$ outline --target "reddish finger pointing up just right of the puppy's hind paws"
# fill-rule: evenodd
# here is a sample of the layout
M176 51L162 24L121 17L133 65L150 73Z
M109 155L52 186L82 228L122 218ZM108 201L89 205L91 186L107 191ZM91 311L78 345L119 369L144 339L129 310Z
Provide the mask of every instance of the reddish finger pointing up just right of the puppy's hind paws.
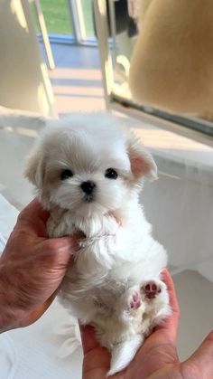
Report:
M162 325L160 327L157 327L156 329L163 329L167 331L171 341L175 342L179 326L180 308L178 298L174 289L174 283L167 269L162 271L162 280L165 282L167 290L169 292L171 315L167 317L166 320L164 320L164 322L162 323Z

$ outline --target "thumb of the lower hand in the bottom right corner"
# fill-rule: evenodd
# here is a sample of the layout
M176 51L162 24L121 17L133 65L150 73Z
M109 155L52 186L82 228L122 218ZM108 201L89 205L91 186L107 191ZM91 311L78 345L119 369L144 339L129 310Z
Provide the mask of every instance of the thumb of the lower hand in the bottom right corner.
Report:
M213 378L213 330L183 365L198 368L200 378Z

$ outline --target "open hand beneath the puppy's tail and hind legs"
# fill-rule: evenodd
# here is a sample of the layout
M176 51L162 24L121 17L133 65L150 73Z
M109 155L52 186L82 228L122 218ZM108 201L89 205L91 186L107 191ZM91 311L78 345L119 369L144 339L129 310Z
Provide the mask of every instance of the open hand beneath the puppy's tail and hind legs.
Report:
M209 379L213 377L213 332L190 358L181 363L176 349L180 310L171 276L163 272L172 313L156 327L131 364L112 379ZM110 355L97 343L92 327L80 327L84 352L83 379L104 379L109 370Z

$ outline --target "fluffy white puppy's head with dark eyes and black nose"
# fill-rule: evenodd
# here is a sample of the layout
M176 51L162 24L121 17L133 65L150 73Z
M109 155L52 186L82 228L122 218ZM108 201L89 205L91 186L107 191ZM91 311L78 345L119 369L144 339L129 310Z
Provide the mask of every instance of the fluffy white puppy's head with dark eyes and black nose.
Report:
M46 128L29 156L25 176L42 204L92 216L121 208L154 179L152 156L111 115L74 115Z

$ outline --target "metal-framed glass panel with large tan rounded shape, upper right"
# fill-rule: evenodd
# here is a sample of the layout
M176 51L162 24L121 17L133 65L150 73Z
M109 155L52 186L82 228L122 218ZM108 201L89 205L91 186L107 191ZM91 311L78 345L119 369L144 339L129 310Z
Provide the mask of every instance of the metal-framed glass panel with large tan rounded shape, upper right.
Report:
M139 3L143 5L141 13L139 12ZM179 26L180 23L176 23L178 17L181 17L181 12L183 12L182 9L179 9L179 5L177 5L177 9L173 10L172 5L170 9L169 2L165 10L160 9L157 3L151 0L140 0L140 2L138 0L97 1L97 29L102 45L102 69L105 71L108 105L115 108L123 107L123 110L125 109L126 112L140 111L141 114L143 112L144 117L153 118L153 120L158 120L158 122L159 120L169 120L172 123L213 135L213 111L211 109L211 104L213 104L213 62L211 64L211 60L213 60L213 57L211 58L209 53L211 51L211 35L213 35L212 23L205 29L204 24L206 21L203 18L204 15L198 17L198 12L198 15L195 17L196 20L198 19L197 24L199 24L200 30L203 31L200 38L198 38L199 31L198 29L195 30L195 27L197 27L195 25L197 24L195 22L192 23L190 9L187 13L184 8L185 14L189 14L189 20L186 21L188 29L185 31L183 26L182 30L178 29L178 27L181 28ZM184 7L190 6L187 3ZM152 14L153 9L150 7L154 6L158 6L159 9L154 9L155 13L153 12ZM207 6L205 5L205 7ZM166 43L163 43L162 38L161 45L158 36L164 33L163 13L165 14L166 12L171 13L171 24L169 23L167 28L165 28L165 38L167 40ZM154 20L154 16L156 17L156 21ZM103 24L103 20L105 20L105 24ZM190 20L191 24L189 27ZM175 23L177 24L176 29ZM136 76L136 78L141 78L141 81L137 79L136 85L141 84L143 88L141 90L143 95L140 101L135 99L133 96L133 86L130 89L128 84L130 62L133 59L135 43L138 41L139 28L140 36L143 35L143 38L141 37L140 40L140 53L143 54L144 49L146 61L149 59L150 54L150 61L147 63L144 60L140 65L140 70L144 70L142 71L143 75L137 74ZM150 28L148 33L147 28ZM110 40L107 38L107 30L111 36ZM149 33L152 35L152 39L150 40ZM197 40L195 38L196 35ZM154 38L156 44L152 46ZM197 43L194 43L194 40ZM192 47L194 47L194 51L191 50ZM172 57L174 49L177 49L177 53L175 52L176 55L174 54ZM207 49L209 52L207 52ZM140 54L138 56L140 59ZM107 64L106 61L108 61ZM152 70L153 77L156 78L155 81L151 81L150 79L152 77ZM158 70L164 70L162 73L164 75L163 78L157 76ZM194 77L190 75L193 70ZM197 72L198 75L196 75ZM203 80L204 83L201 83L199 87L202 74L205 77L205 82ZM199 79L197 80L198 77ZM188 81L188 78L190 78L190 81ZM160 81L162 81L161 88L159 85ZM145 86L148 90L144 90ZM153 90L153 93L151 93L151 90ZM162 99L163 90L165 96ZM211 92L212 99L209 99L208 93ZM157 97L156 94L160 95ZM208 101L205 100L206 98L208 98ZM202 106L203 103L205 104Z

